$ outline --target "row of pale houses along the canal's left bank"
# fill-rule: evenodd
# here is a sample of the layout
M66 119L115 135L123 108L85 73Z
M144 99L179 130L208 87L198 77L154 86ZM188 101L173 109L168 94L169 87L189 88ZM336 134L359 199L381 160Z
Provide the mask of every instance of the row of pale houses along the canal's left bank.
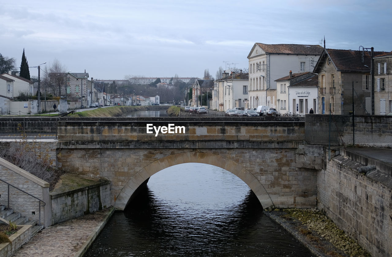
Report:
M62 101L59 109L67 111L68 109L85 108L91 104L98 103L102 105L156 105L160 103L160 96L158 95L136 95L135 93L109 94L111 83L102 81L94 81L89 73L49 73L49 81L45 83L34 83L31 80L24 79L11 73L4 73L0 75L0 114L27 114L45 112L51 109L53 103L46 103L42 101L35 102L33 100L21 103L15 98L21 93L25 95L36 95L38 88L41 95L57 95L61 99L66 100L66 106L62 106ZM48 84L49 86L46 86ZM113 91L113 90L111 90ZM40 105L40 103L42 104ZM61 106L60 106L61 105ZM13 107L14 106L14 107ZM61 108L60 108L61 107Z

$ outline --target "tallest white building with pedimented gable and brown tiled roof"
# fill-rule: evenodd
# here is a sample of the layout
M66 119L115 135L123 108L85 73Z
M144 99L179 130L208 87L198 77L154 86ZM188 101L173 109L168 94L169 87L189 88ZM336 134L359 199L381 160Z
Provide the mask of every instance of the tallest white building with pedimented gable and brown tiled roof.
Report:
M248 54L249 104L276 108L275 80L293 73L312 71L323 47L319 45L255 43Z

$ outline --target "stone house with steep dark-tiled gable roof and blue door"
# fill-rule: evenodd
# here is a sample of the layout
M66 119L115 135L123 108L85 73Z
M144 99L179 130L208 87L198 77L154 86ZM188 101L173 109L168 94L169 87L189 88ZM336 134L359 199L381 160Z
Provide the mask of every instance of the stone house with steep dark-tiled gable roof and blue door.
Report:
M384 52L374 52L380 54ZM313 70L319 75L319 113L351 113L353 93L354 113L372 113L370 55L360 50L323 50Z

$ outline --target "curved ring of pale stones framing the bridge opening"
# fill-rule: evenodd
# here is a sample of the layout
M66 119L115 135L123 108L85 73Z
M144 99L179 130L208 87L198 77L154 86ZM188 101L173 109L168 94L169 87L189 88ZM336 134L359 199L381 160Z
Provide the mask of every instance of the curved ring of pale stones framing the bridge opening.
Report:
M143 182L145 182L149 177L158 171L177 164L189 162L211 164L233 173L237 177L241 178L241 180L243 180L243 182L245 182L245 184L247 184L247 186L252 189L263 208L268 208L274 205L269 194L260 181L240 164L222 157L221 155L216 155L213 153L182 152L162 157L138 171L138 173L131 177L127 184L125 184L125 186L122 188L116 199L116 202L114 203L114 207L116 207L118 210L124 210L136 189L138 189L138 187L142 185Z

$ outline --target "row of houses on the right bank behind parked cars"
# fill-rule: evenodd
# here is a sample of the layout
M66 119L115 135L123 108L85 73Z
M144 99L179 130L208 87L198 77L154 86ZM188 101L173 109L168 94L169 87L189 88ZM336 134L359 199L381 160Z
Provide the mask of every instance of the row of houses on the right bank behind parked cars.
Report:
M248 73L227 70L210 88L195 82L196 95L211 91L218 111L267 105L298 114L392 112L392 52L255 43L247 58Z

